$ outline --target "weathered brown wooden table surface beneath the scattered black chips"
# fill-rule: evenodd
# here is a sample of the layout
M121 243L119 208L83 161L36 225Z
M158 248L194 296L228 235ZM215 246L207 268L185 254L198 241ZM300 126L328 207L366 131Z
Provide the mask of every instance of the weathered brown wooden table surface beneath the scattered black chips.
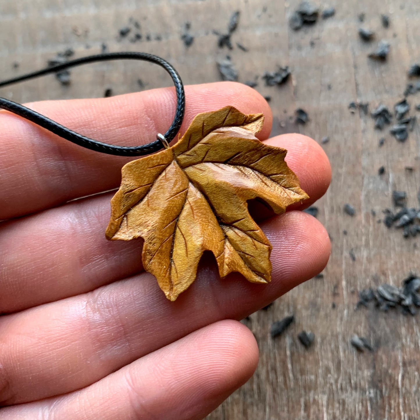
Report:
M323 148L331 159L333 181L317 205L318 218L331 236L332 253L323 279L297 287L267 311L244 321L259 343L259 366L253 378L208 419L419 419L420 315L355 311L354 305L358 289L381 283L399 286L410 270L419 269L418 239L404 239L400 231L388 231L377 220L384 208L391 207L393 189L407 191L408 205L418 207L420 131L417 126L407 142L398 143L388 130L375 131L370 116L350 113L348 104L367 101L372 110L379 102L392 107L402 97L407 69L420 60L420 2L331 0L328 5L336 7L336 16L294 32L288 18L297 4L295 0L2 0L0 79L42 68L68 47L82 56L100 52L106 42L110 51L161 55L186 84L219 80L215 60L227 50L217 47L212 30L226 30L231 13L241 11L233 40L249 52L236 47L229 52L240 81L253 80L278 65L288 65L292 71L292 79L281 87L265 87L261 79L256 87L272 97L273 134L300 131L318 142L323 136L330 138ZM358 39L361 12L366 16L363 26L391 43L386 63L367 59L374 44ZM390 16L388 29L382 27L380 13ZM150 41L118 39L118 29L130 17L140 21ZM188 49L180 39L186 21L191 21L195 37ZM18 70L12 67L15 61ZM108 87L114 94L138 90L139 77L146 88L170 85L167 75L149 64L100 63L74 69L74 83L68 88L48 76L1 89L0 95L18 102L100 97ZM416 100L420 102L420 94L409 97L412 108ZM310 116L304 126L291 118L299 107ZM381 136L386 141L379 148ZM380 177L381 165L386 173ZM414 170L404 170L406 165ZM346 202L354 205L354 217L343 213ZM291 313L296 322L283 336L271 339L270 324ZM315 333L308 350L297 341L302 329ZM370 339L375 351L357 353L349 344L355 333Z

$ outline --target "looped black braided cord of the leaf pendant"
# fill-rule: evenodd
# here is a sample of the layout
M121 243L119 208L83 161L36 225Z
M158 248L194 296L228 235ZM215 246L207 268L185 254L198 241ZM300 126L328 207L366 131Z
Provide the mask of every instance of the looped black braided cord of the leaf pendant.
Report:
M7 86L9 84L18 83L20 81L32 79L34 77L43 76L45 74L56 73L65 68L80 66L81 64L93 63L95 61L106 61L106 60L145 60L152 63L158 64L163 67L172 77L173 83L175 84L176 90L176 112L175 117L168 131L163 135L165 140L169 143L178 132L181 127L182 120L184 119L185 112L185 92L184 85L182 84L181 77L178 72L163 58L157 57L153 54L148 53L106 53L98 55L89 55L88 57L78 58L76 60L68 61L67 63L59 64L58 66L51 66L40 71L34 71L24 76L19 76L14 79L5 80L0 82L0 87ZM164 147L163 142L160 138L157 138L154 142L144 144L143 146L115 146L113 144L107 144L98 142L97 140L89 139L89 137L82 136L68 128L56 123L50 118L45 117L29 108L24 107L16 102L0 97L0 108L8 110L16 115L26 118L29 121L57 134L63 139L69 140L70 142L76 143L79 146L86 147L96 152L108 153L108 155L117 156L142 156L148 155L149 153L157 152Z

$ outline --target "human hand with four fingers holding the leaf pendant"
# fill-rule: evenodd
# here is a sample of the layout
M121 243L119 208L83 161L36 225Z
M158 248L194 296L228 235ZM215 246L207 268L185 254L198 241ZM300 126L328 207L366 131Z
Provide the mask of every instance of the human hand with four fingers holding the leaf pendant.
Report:
M194 115L233 105L264 113L265 100L241 84L186 87L181 134ZM137 145L170 125L173 88L107 99L29 105L102 142ZM283 215L256 207L273 245L272 281L218 278L203 258L197 280L169 302L142 269L142 241L107 241L110 198L132 158L83 149L0 112L0 418L2 420L202 419L255 370L252 333L235 321L319 273L328 234L300 211L326 191L331 168L316 142L299 134L268 144L310 199Z

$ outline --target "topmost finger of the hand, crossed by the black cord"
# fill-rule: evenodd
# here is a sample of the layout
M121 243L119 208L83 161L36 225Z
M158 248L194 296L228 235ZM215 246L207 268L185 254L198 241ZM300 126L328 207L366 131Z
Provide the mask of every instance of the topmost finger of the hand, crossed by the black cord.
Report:
M271 111L254 89L234 82L186 86L182 134L197 113L233 105L243 113L263 113L266 139ZM45 101L29 108L110 144L139 145L155 140L171 124L174 88L153 89L111 98ZM68 200L116 188L121 167L133 158L105 155L72 144L18 117L0 112L0 220L60 205Z

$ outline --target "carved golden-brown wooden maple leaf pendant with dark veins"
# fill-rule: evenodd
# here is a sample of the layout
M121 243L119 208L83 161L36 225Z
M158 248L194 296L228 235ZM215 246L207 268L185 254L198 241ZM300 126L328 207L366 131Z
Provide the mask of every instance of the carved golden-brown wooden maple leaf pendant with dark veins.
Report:
M192 284L205 250L222 278L237 271L270 281L271 245L247 200L259 197L280 214L308 196L284 161L287 151L255 137L263 121L233 107L198 114L175 145L123 167L106 237L142 237L144 268L168 299Z

